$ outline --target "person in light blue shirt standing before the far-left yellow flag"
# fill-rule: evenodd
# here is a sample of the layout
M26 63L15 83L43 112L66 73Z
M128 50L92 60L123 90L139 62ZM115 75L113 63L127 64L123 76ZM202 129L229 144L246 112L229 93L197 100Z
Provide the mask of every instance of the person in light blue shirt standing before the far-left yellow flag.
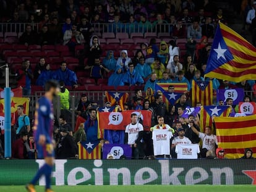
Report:
M24 106L20 105L17 107L17 112L19 115L17 122L17 130L16 135L20 135L20 133L30 133L30 119L27 115L24 114Z

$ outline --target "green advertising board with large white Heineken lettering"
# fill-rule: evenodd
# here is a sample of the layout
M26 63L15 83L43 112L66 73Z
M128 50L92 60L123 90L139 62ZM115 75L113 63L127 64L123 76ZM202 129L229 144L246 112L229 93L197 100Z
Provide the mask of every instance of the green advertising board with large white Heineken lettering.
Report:
M0 185L25 185L42 160L0 162ZM248 176L250 175L250 177ZM56 160L53 185L252 185L255 159ZM45 184L41 178L40 185Z

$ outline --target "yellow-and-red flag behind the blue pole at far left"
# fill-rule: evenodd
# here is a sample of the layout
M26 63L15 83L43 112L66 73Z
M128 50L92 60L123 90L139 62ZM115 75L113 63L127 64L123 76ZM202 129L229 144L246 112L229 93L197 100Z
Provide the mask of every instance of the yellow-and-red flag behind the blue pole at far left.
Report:
M24 114L28 115L29 102L30 102L29 98L11 98L11 113L16 113L17 107L23 106ZM0 99L0 112L4 113L4 99Z

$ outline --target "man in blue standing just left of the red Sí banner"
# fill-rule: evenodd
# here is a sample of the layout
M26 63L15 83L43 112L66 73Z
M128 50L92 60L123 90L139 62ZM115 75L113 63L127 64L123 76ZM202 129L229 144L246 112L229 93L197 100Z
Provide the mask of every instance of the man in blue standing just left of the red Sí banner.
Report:
M87 121L84 124L87 141L98 140L98 120L96 119L96 110L90 109Z

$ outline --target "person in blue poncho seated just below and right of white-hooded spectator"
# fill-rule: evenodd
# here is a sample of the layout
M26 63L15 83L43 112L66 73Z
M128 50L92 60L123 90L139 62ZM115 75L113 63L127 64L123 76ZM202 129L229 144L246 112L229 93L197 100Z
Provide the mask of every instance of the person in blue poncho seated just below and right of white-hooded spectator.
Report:
M124 74L122 81L124 85L141 85L144 83L142 76L134 70L134 64L130 62L128 64L129 70Z

